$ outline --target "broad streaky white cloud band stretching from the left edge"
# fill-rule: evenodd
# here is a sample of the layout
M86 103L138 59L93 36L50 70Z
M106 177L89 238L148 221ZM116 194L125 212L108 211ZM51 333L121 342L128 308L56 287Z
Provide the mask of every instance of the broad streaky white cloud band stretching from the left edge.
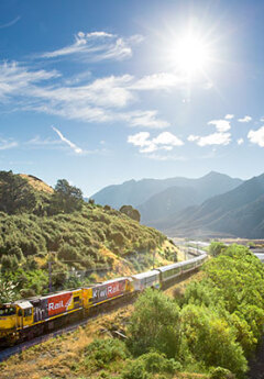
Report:
M87 73L86 73L87 74ZM43 85L53 79L53 85ZM56 82L56 80L58 82ZM131 126L164 129L169 123L158 116L156 110L122 110L139 101L136 90L130 89L135 78L130 75L99 78L67 86L61 75L45 70L30 70L18 64L0 65L0 102L13 98L18 108L55 114L84 122L125 122ZM14 107L12 107L14 110Z

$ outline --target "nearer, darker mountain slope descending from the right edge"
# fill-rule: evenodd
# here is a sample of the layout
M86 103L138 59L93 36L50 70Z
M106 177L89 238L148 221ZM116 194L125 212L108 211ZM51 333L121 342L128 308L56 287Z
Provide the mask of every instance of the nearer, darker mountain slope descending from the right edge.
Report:
M169 235L224 235L248 238L264 236L264 174L201 205L175 213L163 224Z

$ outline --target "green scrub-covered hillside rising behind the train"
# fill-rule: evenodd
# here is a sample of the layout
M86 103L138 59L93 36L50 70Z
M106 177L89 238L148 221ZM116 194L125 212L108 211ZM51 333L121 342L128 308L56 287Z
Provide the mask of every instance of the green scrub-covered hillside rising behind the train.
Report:
M43 189L43 182L36 188L0 172L0 271L18 283L16 296L47 290L50 259L53 288L59 289L150 268L154 250L156 263L175 258L177 249L161 232L92 202L65 213L54 207L59 192Z

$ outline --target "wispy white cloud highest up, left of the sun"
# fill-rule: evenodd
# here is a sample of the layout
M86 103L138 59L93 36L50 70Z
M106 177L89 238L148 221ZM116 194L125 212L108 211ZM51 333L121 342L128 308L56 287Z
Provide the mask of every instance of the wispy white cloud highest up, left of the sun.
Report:
M140 38L122 38L107 32L78 32L72 45L46 52L41 55L43 58L55 58L68 55L82 55L90 60L124 59L132 56L132 45L139 43Z

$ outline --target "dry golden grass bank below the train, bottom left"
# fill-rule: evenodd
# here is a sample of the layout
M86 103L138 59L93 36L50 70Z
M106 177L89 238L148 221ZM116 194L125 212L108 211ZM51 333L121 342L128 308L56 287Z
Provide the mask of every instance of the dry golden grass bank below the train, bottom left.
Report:
M123 320L129 319L133 310L128 305L111 314L101 315L90 321L86 327L43 344L31 347L20 355L9 358L0 365L1 379L59 379L79 378L85 372L73 371L82 357L82 352L96 337L106 337L111 328L118 328ZM87 377L88 379L88 377Z

